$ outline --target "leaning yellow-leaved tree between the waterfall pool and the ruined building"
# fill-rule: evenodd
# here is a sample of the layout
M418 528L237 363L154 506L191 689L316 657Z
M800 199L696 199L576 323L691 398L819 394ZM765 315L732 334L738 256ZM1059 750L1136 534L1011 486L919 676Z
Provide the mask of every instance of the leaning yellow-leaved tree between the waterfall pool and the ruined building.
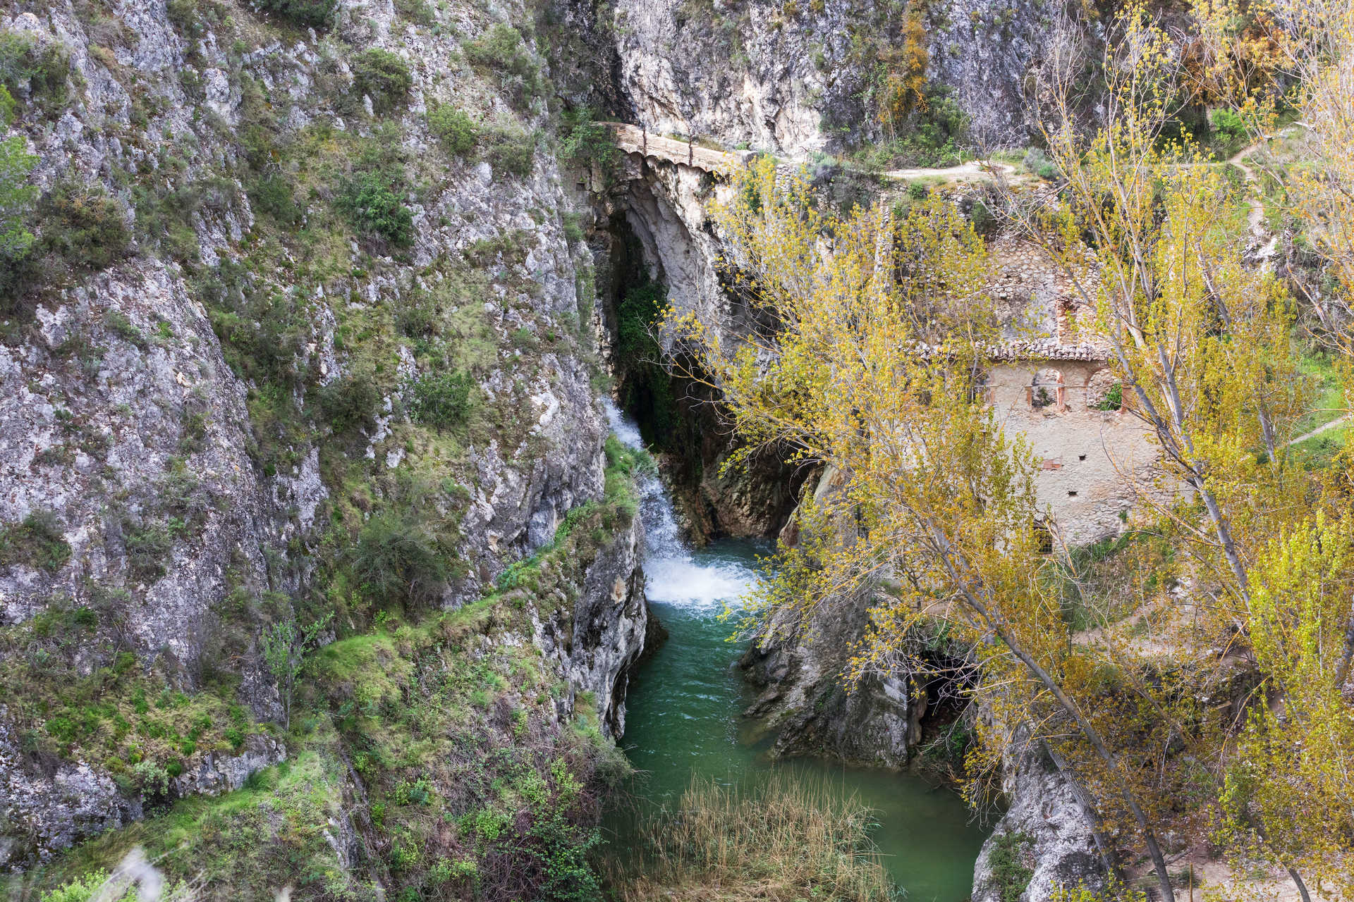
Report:
M722 392L750 448L788 446L837 475L834 491L806 499L800 541L781 549L749 614L793 629L831 599L876 594L857 676L918 623L949 622L984 672L988 753L1017 728L1085 749L1174 898L1141 778L1089 707L1095 663L1068 641L1060 598L1041 579L1034 461L984 402L997 323L982 239L940 197L900 223L858 208L834 216L803 177L769 161L715 219L735 289L772 326L730 346L693 316L670 318L700 364L686 375Z

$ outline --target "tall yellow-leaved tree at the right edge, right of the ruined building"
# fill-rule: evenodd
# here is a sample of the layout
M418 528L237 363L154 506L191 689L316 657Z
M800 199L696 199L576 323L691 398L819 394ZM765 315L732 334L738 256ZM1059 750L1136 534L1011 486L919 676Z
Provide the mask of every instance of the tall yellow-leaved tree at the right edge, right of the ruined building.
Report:
M1216 15L1219 7L1202 12ZM1349 4L1327 9L1327 22L1285 16L1277 7L1251 12L1290 26L1275 42L1288 53L1300 46L1304 28L1320 43L1313 57L1320 65L1294 66L1303 76L1296 95L1320 110L1313 118L1328 134L1338 134L1343 114L1335 108L1354 104L1347 91L1343 97L1331 91L1339 78L1330 70L1351 61L1347 43L1343 57L1336 51L1345 41L1338 35L1350 34ZM1215 35L1223 30L1212 27ZM1339 510L1347 500L1334 503L1324 519L1309 518L1331 495L1288 450L1309 403L1290 335L1292 300L1273 275L1244 261L1243 197L1189 143L1160 138L1179 96L1166 35L1141 9L1131 9L1117 50L1105 65L1105 122L1090 137L1068 103L1074 68L1056 60L1049 68L1041 122L1066 189L1062 203L1017 219L1063 262L1083 299L1098 304L1135 412L1162 448L1163 476L1202 508L1197 517L1192 506L1167 511L1200 563L1196 592L1219 590L1206 610L1229 623L1215 629L1235 630L1233 642L1263 680L1240 736L1221 737L1217 749L1231 852L1281 864L1304 899L1303 871L1347 894L1354 710L1343 695L1347 665L1340 661L1345 648L1354 648L1345 638L1354 637L1354 619L1343 588L1347 515ZM1239 60L1216 57L1224 58ZM1215 84L1247 89L1252 82L1242 74ZM1273 96L1251 93L1244 110L1261 122L1273 111ZM1336 270L1349 229L1342 166L1347 160L1301 174L1290 192ZM1086 238L1095 249L1091 266L1082 253Z

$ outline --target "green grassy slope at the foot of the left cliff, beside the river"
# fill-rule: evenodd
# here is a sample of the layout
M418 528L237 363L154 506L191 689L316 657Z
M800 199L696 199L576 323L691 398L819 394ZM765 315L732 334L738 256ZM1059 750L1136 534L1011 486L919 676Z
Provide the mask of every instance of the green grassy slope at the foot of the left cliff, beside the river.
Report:
M371 879L408 899L592 898L597 792L628 765L593 699L574 698L532 644L531 618L567 618L585 569L635 514L631 477L651 464L615 440L608 452L607 496L575 508L492 594L385 618L314 653L291 761L85 842L35 884L111 868L142 845L171 880L200 878L207 899L287 884L294 899L367 899ZM345 834L351 870L332 845Z

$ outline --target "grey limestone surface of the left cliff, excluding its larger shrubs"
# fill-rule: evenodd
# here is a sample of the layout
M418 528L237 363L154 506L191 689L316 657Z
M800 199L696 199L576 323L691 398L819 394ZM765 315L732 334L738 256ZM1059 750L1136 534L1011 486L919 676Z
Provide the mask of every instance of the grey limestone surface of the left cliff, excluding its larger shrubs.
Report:
M454 607L547 544L570 508L601 496L592 260L569 237L577 207L559 164L538 146L552 123L544 97L523 101L520 85L462 50L504 20L520 24L520 9L451 3L422 19L344 1L318 32L230 0L103 9L0 11L7 37L69 61L61 103L18 96L8 134L37 157L32 184L106 197L127 234L110 265L45 285L4 323L0 530L42 518L68 553L49 564L0 559L0 626L24 637L61 611L93 617L88 634L60 637L73 679L130 652L131 673L164 676L187 696L209 691L209 672L213 687L236 686L226 701L248 710L250 738L238 753L185 752L169 794L217 792L284 755L255 728L282 711L259 653L257 599L322 598L330 587L320 576L348 560L364 519L403 504L454 523L455 567L429 602ZM366 50L408 70L408 92L387 111L374 111L378 92L356 70ZM521 54L548 81L529 28ZM529 142L525 168L448 153L428 114L452 101L502 130L486 134ZM382 246L344 219L340 196L356 166L397 173L408 247ZM294 214L260 201L265 179L286 185ZM274 312L240 316L229 307L240 292L272 298ZM473 375L482 417L455 441L412 422L412 385L443 364L428 356L429 333L399 325L410 307L443 318L441 338L462 342L444 366ZM227 345L283 314L297 342L269 350L294 379L274 391L227 360ZM376 396L370 418L362 411L343 431L330 411L356 377L370 377ZM638 655L645 623L632 610L632 536L617 542L607 572L584 587L589 626L566 669L619 728L624 692L613 696L611 682ZM624 610L611 617L603 609L617 580ZM238 633L230 655L226 633ZM0 730L9 726L0 709ZM43 749L56 744L41 721L37 729ZM60 749L41 757L16 732L0 737L9 806L0 865L46 859L141 815L141 791L115 783L102 761ZM116 744L103 753L129 756Z

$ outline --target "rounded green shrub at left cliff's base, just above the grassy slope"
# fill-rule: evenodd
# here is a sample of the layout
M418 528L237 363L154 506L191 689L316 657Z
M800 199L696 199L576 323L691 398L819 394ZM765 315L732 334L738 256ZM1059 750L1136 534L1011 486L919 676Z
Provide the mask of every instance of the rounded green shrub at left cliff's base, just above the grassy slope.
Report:
M436 536L413 515L374 515L357 536L352 569L378 602L420 600L447 580L445 554Z

